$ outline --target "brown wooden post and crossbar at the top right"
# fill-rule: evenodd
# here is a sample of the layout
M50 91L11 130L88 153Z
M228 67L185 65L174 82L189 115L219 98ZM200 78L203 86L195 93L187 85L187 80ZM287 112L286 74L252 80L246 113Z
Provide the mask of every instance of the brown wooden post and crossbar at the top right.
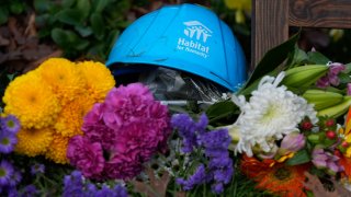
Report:
M252 0L251 67L288 38L288 26L351 28L351 0Z

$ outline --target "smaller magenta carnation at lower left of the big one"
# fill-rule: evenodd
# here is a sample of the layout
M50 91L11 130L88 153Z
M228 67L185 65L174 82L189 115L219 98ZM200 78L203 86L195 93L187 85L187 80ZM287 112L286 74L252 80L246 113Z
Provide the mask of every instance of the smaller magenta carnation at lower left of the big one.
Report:
M83 136L75 136L69 140L67 158L86 177L99 176L104 166L101 144L91 143Z

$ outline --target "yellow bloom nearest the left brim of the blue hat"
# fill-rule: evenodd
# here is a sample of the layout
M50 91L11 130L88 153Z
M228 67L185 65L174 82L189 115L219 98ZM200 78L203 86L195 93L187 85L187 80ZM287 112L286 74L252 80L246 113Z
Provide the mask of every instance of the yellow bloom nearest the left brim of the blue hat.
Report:
M78 68L86 79L87 91L95 102L103 102L107 92L115 85L111 71L101 62L82 61Z

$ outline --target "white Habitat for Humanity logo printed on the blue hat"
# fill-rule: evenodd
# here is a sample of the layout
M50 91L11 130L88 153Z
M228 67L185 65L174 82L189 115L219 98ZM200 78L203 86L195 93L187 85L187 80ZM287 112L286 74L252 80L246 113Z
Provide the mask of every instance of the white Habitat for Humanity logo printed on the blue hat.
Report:
M189 21L183 24L186 37L178 38L177 48L207 58L210 47L206 46L206 42L212 36L212 31L199 21Z

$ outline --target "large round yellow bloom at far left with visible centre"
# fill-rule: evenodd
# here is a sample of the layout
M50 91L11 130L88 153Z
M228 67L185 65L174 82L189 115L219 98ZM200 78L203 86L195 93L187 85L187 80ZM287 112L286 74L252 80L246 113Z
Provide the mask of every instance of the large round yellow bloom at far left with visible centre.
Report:
M24 128L47 127L60 111L56 95L36 73L32 71L15 78L3 96L4 113L16 116Z

